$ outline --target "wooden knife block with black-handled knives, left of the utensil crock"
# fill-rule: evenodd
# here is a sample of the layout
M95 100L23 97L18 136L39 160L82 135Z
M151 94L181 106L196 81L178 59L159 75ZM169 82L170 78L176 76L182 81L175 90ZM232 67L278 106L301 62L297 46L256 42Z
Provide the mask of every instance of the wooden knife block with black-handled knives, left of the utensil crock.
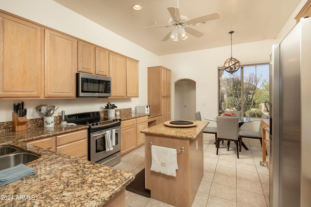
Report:
M23 131L27 129L27 109L24 109L24 102L13 105L12 124L13 131Z

